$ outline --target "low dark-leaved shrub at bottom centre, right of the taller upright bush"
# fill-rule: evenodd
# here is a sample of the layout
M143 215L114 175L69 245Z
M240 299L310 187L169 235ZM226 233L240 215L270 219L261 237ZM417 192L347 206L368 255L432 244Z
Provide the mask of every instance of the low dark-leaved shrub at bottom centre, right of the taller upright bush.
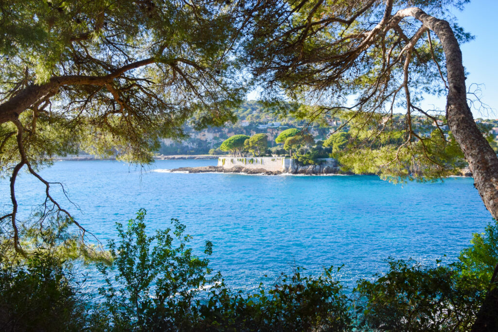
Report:
M199 312L199 331L351 331L351 303L332 276L333 268L319 277L302 276L296 268L282 274L269 290L255 294L233 293L217 287Z

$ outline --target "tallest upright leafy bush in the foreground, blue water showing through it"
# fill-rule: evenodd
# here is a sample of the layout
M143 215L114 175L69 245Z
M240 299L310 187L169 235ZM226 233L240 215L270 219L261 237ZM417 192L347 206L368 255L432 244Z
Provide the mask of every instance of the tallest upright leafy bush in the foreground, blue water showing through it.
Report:
M185 225L172 219L173 229L145 233L145 210L127 227L117 224L119 242L109 241L114 259L114 273L104 264L98 269L106 286L99 293L109 313L110 325L118 331L185 331L195 325L194 300L208 283L209 260L199 258L187 247L192 238L185 235ZM212 253L206 241L204 254Z

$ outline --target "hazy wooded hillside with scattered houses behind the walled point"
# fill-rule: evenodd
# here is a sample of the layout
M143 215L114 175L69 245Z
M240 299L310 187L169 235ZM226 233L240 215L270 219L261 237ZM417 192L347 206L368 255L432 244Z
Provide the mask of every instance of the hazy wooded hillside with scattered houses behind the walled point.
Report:
M269 107L265 107L258 101L247 101L239 108L234 110L234 115L237 117L235 123L227 122L224 126L209 126L203 130L197 131L193 126L185 125L184 131L188 135L182 140L165 139L161 142L158 150L159 154L174 155L174 154L225 154L228 151L219 149L223 141L233 135L241 134L253 136L255 134L266 134L268 137L268 148L272 149L273 154L283 154L282 151L277 152L278 143L275 139L278 135L291 128L303 130L313 136L315 142L323 141L323 147L332 146L330 143L341 137L342 143L336 144L334 152L339 152L339 146L344 148L347 139L354 135L358 135L358 130L353 135L349 134L350 128L354 123L348 122L348 116L327 116L324 114L314 121L305 117L298 108L293 105L288 105L288 110L284 113L276 113ZM405 115L393 114L390 122L389 139L398 142L402 136L401 131L404 129ZM429 136L432 131L439 127L445 132L448 132L448 125L444 117L440 117L438 123L424 116L413 116L412 122L416 132L421 136ZM498 119L477 119L476 122L481 131L486 133L487 139L497 149L496 137L498 136ZM397 130L396 133L394 129ZM333 135L336 131L341 132L340 136ZM363 134L365 135L365 133ZM372 133L371 133L372 135ZM394 136L397 135L397 139ZM336 138L334 138L336 137ZM360 138L362 136L359 136ZM329 143L327 143L329 142ZM284 143L283 141L281 143ZM318 144L322 145L322 144ZM283 148L283 146L282 146ZM210 151L211 150L211 151ZM498 149L497 149L498 150Z

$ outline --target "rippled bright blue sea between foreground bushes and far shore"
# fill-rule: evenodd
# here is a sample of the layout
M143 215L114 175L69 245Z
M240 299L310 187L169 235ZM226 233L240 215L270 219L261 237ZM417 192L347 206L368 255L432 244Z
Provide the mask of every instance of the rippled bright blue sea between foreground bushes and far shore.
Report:
M214 165L216 160L165 160L147 168L112 161L62 161L43 170L66 185L81 212L56 196L103 242L114 224L147 209L150 231L171 218L187 225L199 248L215 245L211 266L233 287L273 281L281 271L345 264L346 283L385 271L388 256L432 264L453 259L473 232L491 222L473 180L392 185L374 176L248 176L181 174L163 170ZM23 175L17 197L24 216L43 187ZM8 181L0 182L8 208ZM54 190L55 192L55 190ZM264 278L263 275L268 277Z

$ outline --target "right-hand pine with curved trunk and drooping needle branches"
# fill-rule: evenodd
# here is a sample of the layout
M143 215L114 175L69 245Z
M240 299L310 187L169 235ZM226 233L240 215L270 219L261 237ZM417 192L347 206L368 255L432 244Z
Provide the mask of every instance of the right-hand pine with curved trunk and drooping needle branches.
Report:
M344 125L364 131L370 139L355 140L357 151L372 151L363 155L365 164L383 159L376 173L384 178L447 176L458 164L447 150L458 144L483 202L498 218L498 158L467 103L459 43L472 36L451 15L465 2L273 0L254 17L247 66L268 104L301 105L296 113L310 121L340 115ZM423 109L426 93L446 95L446 112ZM393 121L398 110L406 114L401 142L370 146L391 128L400 130ZM413 114L432 121L437 135L420 135Z

